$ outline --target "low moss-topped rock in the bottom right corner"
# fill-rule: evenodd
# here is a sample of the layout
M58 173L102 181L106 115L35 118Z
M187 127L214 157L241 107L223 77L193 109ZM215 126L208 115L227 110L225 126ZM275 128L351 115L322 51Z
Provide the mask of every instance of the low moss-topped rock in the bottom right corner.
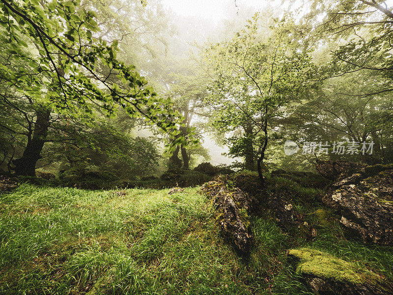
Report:
M393 292L383 277L327 253L302 248L289 250L288 256L297 263L296 271L315 294L389 295Z

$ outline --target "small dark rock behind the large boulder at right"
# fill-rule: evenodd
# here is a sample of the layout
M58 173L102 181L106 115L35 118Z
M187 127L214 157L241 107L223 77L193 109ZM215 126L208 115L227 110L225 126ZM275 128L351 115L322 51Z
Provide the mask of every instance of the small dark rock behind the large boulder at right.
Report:
M341 174L352 175L364 171L365 165L349 161L323 161L316 160L316 171L328 179L334 180Z

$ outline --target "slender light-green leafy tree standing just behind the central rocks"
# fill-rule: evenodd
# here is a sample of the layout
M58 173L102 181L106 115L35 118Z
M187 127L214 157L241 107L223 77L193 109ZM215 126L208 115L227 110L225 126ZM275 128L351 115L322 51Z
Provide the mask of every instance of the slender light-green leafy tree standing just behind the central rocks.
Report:
M284 115L284 106L304 90L312 67L307 53L291 46L290 32L280 23L269 30L269 36L258 29L255 15L232 40L206 49L205 57L214 79L209 103L215 110L215 124L225 132L237 132L231 139L232 152L245 156L247 168L253 170L257 154L263 183L261 163L269 133L276 127L273 119Z

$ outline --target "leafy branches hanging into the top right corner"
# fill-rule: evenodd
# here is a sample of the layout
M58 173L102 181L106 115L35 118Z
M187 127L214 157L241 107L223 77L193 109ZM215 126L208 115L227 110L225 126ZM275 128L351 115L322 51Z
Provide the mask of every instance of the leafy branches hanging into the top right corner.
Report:
M300 29L303 39L311 36L315 47L336 41L323 78L368 70L390 81L375 93L361 95L393 90L393 12L384 1L314 0L303 23L303 29Z

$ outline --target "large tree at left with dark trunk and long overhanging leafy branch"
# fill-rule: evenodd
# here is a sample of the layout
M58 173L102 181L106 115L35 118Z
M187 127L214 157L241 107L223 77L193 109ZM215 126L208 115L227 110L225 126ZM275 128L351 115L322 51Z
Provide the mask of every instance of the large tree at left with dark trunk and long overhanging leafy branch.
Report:
M95 37L100 29L96 14L79 1L1 0L0 9L5 28L0 42L9 45L1 54L0 96L8 101L25 97L36 112L31 140L13 161L17 173L35 175L52 112L92 114L95 105L112 115L120 104L129 115L166 131L178 123L169 101L159 98L134 66L116 59L117 41L108 45ZM172 133L182 142L178 131Z

